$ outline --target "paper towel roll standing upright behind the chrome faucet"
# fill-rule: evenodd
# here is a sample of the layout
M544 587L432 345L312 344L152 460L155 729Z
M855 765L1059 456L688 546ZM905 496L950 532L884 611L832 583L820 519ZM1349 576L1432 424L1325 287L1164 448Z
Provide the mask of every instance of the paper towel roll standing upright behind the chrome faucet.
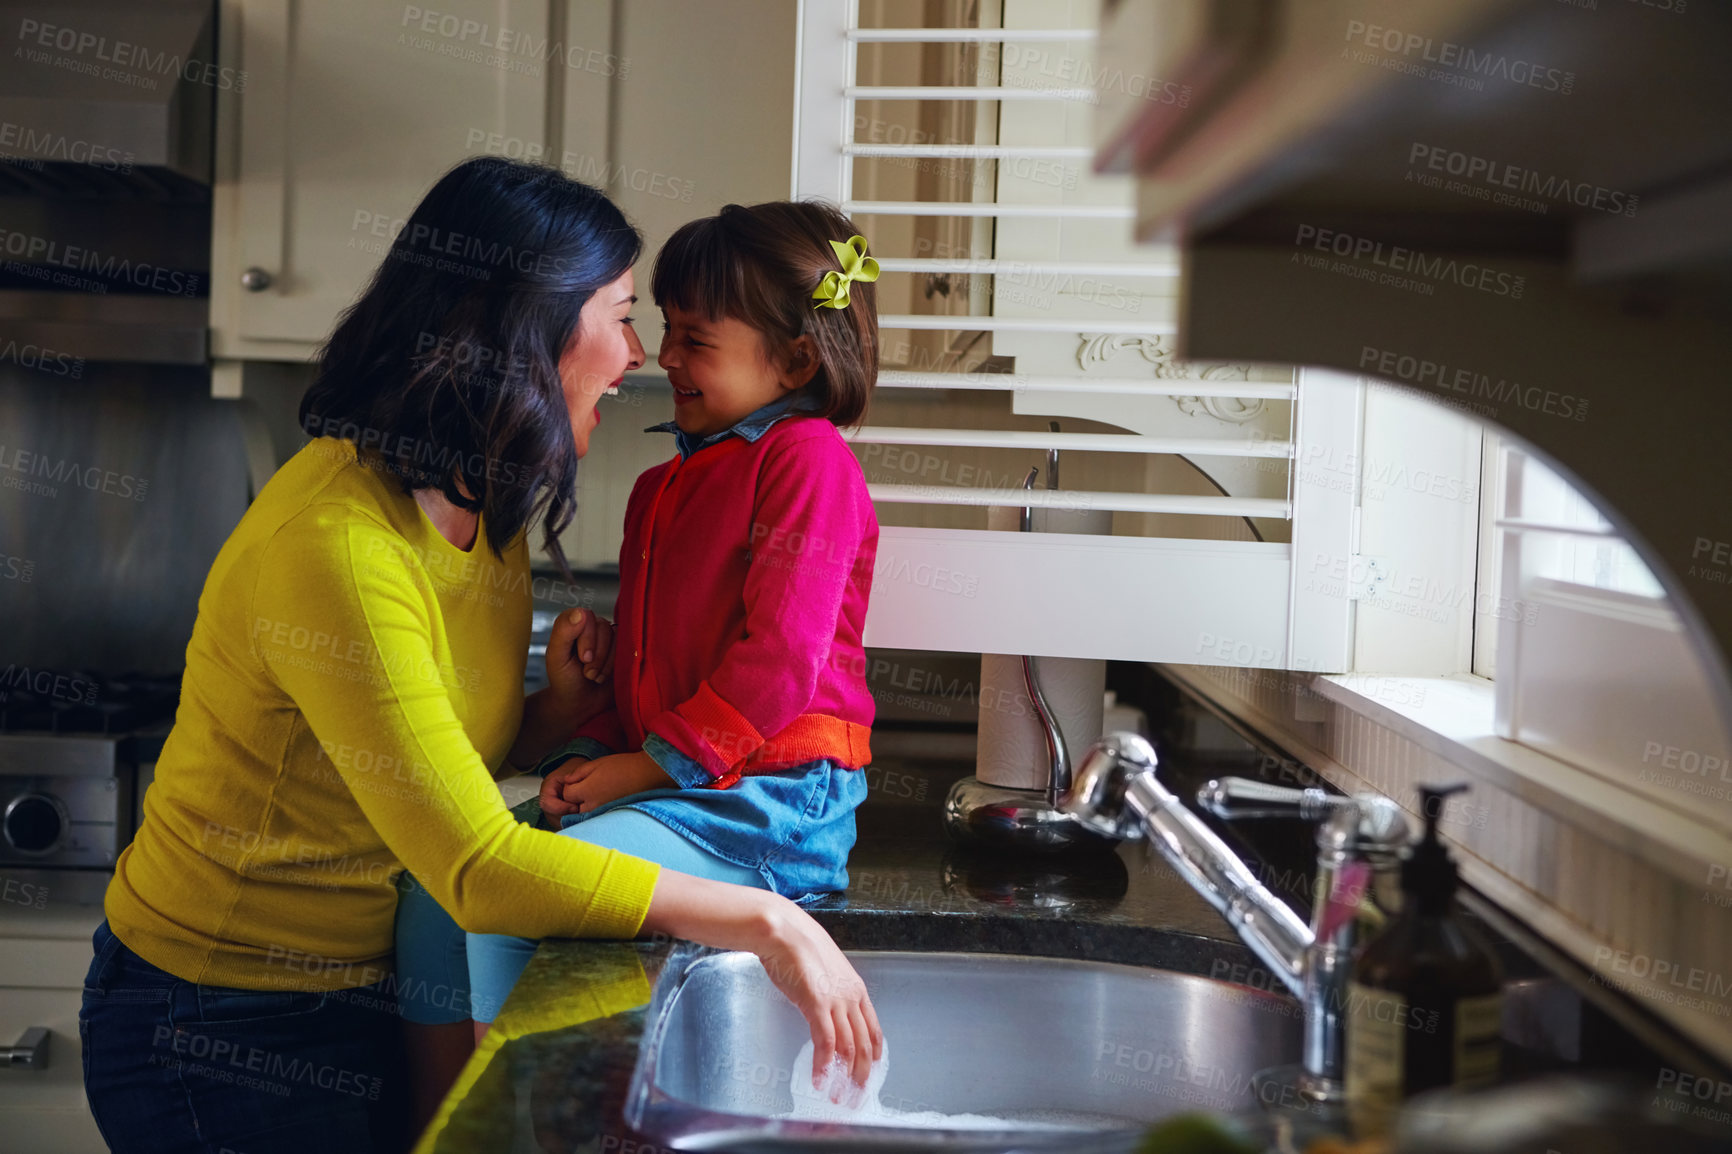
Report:
M1110 534L1110 509L1034 509L1037 534ZM987 528L1015 530L1022 509L992 506ZM1055 596L1067 591L1055 589ZM1065 735L1070 764L1100 740L1107 695L1107 662L1082 657L1037 657L1034 674L1053 710L1058 731ZM1022 657L980 655L980 743L975 750L975 776L987 785L1020 790L1044 790L1051 766L1046 736L1034 714L1034 702L1022 677Z

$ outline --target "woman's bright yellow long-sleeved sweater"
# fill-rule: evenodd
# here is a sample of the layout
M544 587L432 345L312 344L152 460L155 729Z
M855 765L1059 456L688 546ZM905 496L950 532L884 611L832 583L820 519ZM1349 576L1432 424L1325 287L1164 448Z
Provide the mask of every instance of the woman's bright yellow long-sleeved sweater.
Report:
M528 548L468 553L319 438L216 554L114 934L185 981L341 989L391 963L407 866L468 930L630 937L656 866L520 825Z

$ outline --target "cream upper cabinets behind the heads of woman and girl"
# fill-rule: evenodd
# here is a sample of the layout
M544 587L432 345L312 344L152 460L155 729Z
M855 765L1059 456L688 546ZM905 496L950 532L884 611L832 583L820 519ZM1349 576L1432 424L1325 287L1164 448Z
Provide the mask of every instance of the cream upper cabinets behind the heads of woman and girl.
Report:
M786 196L792 0L222 0L220 43L246 75L216 106L229 366L308 360L468 156L604 189L644 230L641 279L686 220Z

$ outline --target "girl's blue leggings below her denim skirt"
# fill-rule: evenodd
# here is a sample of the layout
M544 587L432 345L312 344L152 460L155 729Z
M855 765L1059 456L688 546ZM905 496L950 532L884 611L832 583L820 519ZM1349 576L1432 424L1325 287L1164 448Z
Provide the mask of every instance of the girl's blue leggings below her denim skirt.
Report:
M767 889L757 870L717 858L636 809L610 809L559 830L559 837L617 849L679 873ZM398 1012L428 1026L466 1019L490 1022L539 944L535 937L464 934L405 872L397 898Z

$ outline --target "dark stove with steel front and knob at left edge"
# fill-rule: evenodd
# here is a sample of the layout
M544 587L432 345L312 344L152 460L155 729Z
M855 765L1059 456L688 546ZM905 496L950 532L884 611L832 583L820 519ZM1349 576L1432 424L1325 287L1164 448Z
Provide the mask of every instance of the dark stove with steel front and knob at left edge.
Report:
M68 872L106 878L178 700L178 677L0 671L0 868L54 873L61 892ZM100 878L88 880L99 894Z

